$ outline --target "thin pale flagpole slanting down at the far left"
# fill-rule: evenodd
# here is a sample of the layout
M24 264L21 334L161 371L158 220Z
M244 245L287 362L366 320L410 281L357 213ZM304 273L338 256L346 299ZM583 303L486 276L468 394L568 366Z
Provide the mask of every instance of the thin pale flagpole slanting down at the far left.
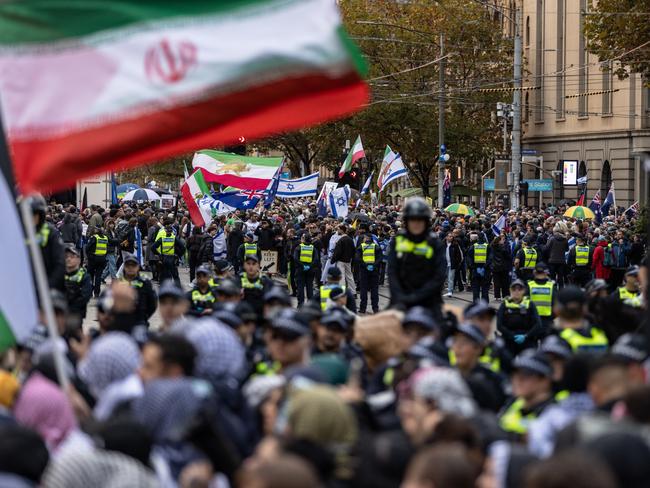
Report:
M32 223L31 197L25 197L22 199L20 202L20 213L23 218L23 225L25 226L25 234L27 236L29 252L32 255L34 277L36 278L38 295L41 298L41 307L45 312L47 330L50 334L50 340L53 343L52 354L54 356L56 376L59 380L59 386L67 394L70 386L70 381L65 374L63 352L58 347L59 329L57 328L56 318L54 317L54 308L52 306L52 297L50 296L50 288L47 283L47 276L45 274L43 256L41 255L41 250L38 248L38 244L36 243L36 232L34 231L34 224Z

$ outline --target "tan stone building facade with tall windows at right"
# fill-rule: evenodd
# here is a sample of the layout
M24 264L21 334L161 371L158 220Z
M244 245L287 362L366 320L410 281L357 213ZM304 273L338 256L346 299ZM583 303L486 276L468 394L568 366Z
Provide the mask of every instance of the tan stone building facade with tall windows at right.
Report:
M514 2L508 2L510 9ZM649 196L643 171L650 161L650 88L637 74L619 80L587 52L583 24L591 0L520 0L523 15L522 147L543 157L543 176L577 160L587 176L587 199L604 198L613 184L617 204ZM511 10L513 11L513 10ZM614 53L612 57L622 53ZM539 170L522 168L524 178ZM579 189L563 187L556 173L553 199L575 199ZM545 193L549 202L551 194Z

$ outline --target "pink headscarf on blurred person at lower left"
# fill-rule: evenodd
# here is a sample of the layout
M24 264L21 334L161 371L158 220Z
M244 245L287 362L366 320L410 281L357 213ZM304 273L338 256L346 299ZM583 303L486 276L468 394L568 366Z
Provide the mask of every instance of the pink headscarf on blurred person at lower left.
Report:
M54 451L77 427L72 406L55 383L33 373L23 386L14 407L16 420L36 430Z

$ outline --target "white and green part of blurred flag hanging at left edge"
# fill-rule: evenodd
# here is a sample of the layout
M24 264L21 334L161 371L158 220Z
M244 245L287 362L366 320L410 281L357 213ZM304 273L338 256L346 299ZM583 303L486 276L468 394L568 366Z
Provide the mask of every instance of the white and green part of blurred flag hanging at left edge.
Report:
M0 134L0 158L3 157ZM0 281L0 352L23 343L38 323L38 305L25 234L7 180L0 172L0 249L3 252Z

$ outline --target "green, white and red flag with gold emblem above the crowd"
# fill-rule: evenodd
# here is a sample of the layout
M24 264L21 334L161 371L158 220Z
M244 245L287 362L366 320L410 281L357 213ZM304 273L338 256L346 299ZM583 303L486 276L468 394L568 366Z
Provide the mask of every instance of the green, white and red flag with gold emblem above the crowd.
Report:
M279 158L255 158L221 151L194 154L192 166L203 170L205 181L242 190L266 190L282 165Z

